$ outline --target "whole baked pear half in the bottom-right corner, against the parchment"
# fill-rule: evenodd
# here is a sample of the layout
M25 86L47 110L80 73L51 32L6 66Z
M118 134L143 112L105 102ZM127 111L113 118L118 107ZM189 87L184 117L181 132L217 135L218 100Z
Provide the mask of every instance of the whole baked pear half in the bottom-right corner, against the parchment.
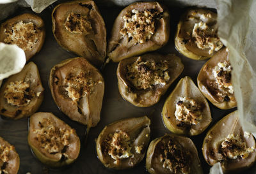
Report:
M206 134L203 154L209 165L220 162L224 171L239 171L255 163L255 139L243 131L238 112L223 117Z

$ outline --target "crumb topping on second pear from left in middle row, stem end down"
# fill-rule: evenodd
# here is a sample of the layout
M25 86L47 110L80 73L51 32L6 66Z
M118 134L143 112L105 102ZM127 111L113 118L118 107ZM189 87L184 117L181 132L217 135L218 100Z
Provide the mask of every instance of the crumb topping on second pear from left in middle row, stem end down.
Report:
M80 98L90 94L93 85L100 82L93 82L90 77L90 72L80 72L77 75L70 73L64 80L65 91L67 91L68 97L72 99L76 104Z

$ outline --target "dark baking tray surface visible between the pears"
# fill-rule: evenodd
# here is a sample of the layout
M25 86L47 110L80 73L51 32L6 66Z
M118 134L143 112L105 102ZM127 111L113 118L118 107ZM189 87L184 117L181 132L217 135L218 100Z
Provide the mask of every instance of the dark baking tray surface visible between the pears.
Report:
M76 132L81 140L81 151L77 161L70 166L60 168L58 170L47 168L44 164L40 163L32 154L31 149L29 148L27 136L28 136L28 119L22 120L8 120L4 117L0 118L0 136L2 136L5 140L9 141L12 145L15 146L15 149L19 153L20 156L20 170L19 173L86 173L86 174L107 174L107 173L133 173L133 174L143 174L148 173L145 169L145 158L141 163L130 169L130 170L109 170L100 163L99 159L97 159L97 152L95 150L95 139L99 135L100 131L104 128L104 126L108 125L115 120L131 118L131 117L141 117L143 115L147 115L151 119L151 135L150 140L154 140L154 138L163 136L165 133L170 133L166 127L164 127L163 120L161 118L161 110L164 105L165 99L168 97L170 92L174 89L177 82L179 82L180 78L184 76L190 76L193 81L196 83L196 77L200 68L206 61L194 61L192 59L188 59L181 54L174 47L174 34L175 28L177 26L177 22L179 21L180 15L185 11L184 8L180 8L179 6L168 6L168 10L170 11L170 40L167 45L165 45L157 52L162 54L173 53L179 56L182 59L184 64L184 71L182 74L172 83L166 94L162 96L159 103L154 106L150 106L148 108L138 108L136 106L131 105L127 101L125 101L118 91L118 84L116 78L116 68L118 66L117 63L109 62L103 69L100 69L102 75L104 76L105 81L105 92L104 99L102 103L102 111L100 116L100 122L96 127L92 127L90 129L90 133L88 138L85 138L86 134L86 126L74 122L66 115L60 112L58 107L55 105L51 91L49 89L49 74L51 68L58 64L59 62L71 58L77 57L77 55L72 54L71 52L67 52L63 48L58 45L54 36L52 34L52 22L51 22L51 12L57 4L61 3L61 1L57 1L52 4L48 8L46 8L42 13L38 14L43 18L45 22L46 29L46 38L44 46L42 50L35 55L30 61L35 62L38 66L40 76L42 79L43 86L45 88L45 96L42 105L40 106L38 112L52 112L54 115L59 117L61 120L66 122L68 125L76 129ZM107 40L109 38L109 33L111 32L111 28L113 22L118 15L118 13L122 10L119 6L111 6L109 4L98 4L100 13L104 18L106 29L107 29ZM15 11L15 13L11 16L14 17L16 15L20 15L22 13L29 12L33 13L30 8L19 8ZM11 18L9 17L9 18ZM198 150L198 156L200 157L201 164L203 166L204 173L209 173L210 166L205 162L204 157L202 156L202 143L204 141L205 134L218 120L227 115L230 112L236 110L236 108L231 110L220 110L213 106L209 102L209 106L211 108L212 114L212 122L210 126L204 131L204 133L193 136L191 139L196 145ZM252 168L242 171L241 173L253 174L256 173L256 164L252 166Z

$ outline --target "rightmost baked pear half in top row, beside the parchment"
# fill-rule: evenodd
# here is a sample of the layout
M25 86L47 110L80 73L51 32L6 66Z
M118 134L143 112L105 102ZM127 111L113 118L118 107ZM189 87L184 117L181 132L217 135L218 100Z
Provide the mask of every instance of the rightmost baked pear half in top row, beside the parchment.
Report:
M190 9L177 25L175 47L190 59L208 59L223 47L217 31L217 13L202 8Z

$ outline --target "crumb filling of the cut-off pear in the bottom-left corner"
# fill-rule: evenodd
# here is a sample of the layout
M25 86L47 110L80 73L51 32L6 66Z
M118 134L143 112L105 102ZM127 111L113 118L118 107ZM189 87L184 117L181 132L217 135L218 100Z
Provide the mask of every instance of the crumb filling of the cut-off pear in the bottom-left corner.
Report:
M10 151L14 150L13 146L6 147L5 145L0 145L0 173L8 174L6 171L6 164L9 162Z

